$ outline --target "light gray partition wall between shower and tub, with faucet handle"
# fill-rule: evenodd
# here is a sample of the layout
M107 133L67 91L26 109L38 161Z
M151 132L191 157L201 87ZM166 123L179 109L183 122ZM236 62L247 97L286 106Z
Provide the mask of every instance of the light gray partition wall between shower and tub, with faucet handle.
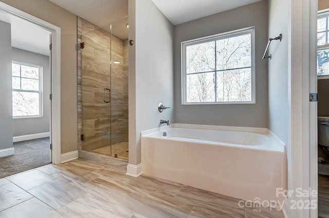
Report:
M129 5L130 39L135 40L136 49L130 46L129 50L129 162L136 165L140 163L140 132L158 127L160 119L172 120L173 25L151 0L132 0ZM135 36L131 35L134 31ZM171 108L160 114L159 102Z

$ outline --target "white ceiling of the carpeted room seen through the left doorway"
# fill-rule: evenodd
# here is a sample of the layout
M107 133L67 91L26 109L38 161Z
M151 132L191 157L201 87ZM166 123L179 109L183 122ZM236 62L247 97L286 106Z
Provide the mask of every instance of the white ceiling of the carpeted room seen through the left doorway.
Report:
M49 31L0 10L0 21L11 24L11 46L49 56Z

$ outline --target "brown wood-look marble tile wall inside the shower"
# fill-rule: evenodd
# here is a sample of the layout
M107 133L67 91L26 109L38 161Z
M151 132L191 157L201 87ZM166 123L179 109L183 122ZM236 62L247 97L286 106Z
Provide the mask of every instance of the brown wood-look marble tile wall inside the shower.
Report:
M112 56L122 60L120 62L123 63L123 42L115 38L112 37ZM128 125L124 124L124 114L126 111L127 123L127 106L124 110L123 93L124 89L127 89L125 84L127 76L123 74L123 64L119 64L114 66L112 81L110 80L110 34L80 17L78 17L79 42L84 42L85 47L78 51L78 148L95 150L110 143L111 111L112 143L126 140L125 132ZM126 82L121 81L125 78ZM112 89L112 108L110 103L103 102L103 88ZM80 140L81 134L85 135L84 141Z

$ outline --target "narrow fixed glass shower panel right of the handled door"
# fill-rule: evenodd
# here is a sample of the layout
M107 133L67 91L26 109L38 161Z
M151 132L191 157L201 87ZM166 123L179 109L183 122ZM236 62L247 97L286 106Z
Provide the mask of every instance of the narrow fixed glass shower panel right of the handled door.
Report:
M111 23L111 155L128 159L128 17Z

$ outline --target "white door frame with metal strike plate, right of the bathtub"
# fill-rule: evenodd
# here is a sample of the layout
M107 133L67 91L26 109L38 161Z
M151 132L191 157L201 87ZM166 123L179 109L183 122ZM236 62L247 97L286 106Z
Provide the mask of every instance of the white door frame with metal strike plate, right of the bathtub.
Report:
M316 21L317 0L289 0L288 98L289 139L287 144L288 190L318 190L317 184L317 102L309 102L309 93L317 93ZM318 217L317 209L290 209L287 217ZM303 201L317 197L302 198Z

